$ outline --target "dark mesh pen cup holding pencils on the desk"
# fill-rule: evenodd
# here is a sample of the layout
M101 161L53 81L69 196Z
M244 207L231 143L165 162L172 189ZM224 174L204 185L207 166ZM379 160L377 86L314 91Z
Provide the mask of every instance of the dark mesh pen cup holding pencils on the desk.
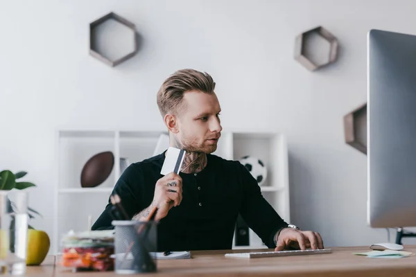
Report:
M116 274L157 271L157 222L114 220L112 224Z

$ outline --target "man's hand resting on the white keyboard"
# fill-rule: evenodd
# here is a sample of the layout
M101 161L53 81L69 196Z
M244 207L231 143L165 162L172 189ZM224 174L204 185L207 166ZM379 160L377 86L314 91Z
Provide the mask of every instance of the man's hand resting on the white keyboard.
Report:
M292 228L282 229L277 237L275 251L285 249L324 249L319 233L313 231L297 231Z

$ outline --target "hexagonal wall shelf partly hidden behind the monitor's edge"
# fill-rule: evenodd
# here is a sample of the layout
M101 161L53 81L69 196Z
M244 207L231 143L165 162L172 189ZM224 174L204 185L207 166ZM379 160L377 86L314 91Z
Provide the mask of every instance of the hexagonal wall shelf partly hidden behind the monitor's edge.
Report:
M367 103L344 116L345 143L367 154Z

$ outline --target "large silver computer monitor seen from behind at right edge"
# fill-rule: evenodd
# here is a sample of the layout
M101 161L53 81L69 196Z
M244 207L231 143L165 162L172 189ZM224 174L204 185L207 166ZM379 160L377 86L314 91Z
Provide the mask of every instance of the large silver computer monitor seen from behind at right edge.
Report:
M416 36L367 35L367 221L416 226Z

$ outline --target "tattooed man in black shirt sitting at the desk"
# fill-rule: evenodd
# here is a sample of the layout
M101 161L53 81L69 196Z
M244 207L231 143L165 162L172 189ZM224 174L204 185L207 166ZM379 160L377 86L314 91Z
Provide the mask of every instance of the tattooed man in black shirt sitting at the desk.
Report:
M257 181L238 161L213 154L222 127L215 82L207 73L184 69L167 78L157 105L169 132L169 144L186 151L177 175L161 175L165 152L133 163L114 192L132 220L145 220L157 206L159 251L231 249L236 217L241 214L269 248L323 249L319 233L287 224L266 202ZM111 229L111 204L92 226Z

